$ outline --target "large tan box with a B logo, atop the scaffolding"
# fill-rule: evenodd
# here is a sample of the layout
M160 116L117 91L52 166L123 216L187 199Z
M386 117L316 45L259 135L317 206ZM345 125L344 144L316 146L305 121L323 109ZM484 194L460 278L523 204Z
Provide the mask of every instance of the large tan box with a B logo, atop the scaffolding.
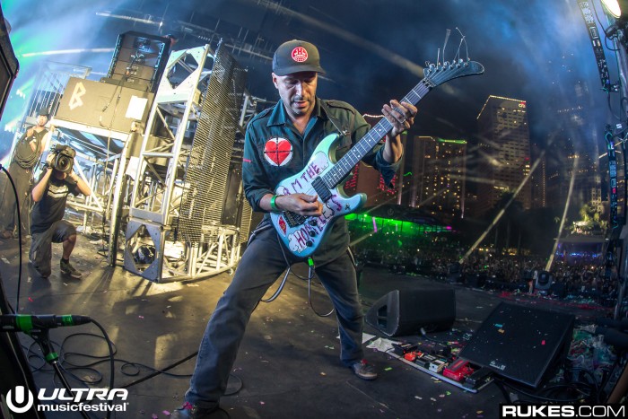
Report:
M70 77L55 118L128 133L133 121L148 118L153 97L151 92Z

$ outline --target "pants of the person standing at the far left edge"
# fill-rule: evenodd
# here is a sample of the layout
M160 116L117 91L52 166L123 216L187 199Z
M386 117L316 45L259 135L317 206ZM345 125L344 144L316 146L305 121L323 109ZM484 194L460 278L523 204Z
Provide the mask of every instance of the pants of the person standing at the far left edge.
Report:
M24 169L15 161L9 165L9 174L15 184L17 196L20 202L20 217L22 220L22 235L28 234L29 210L31 207L31 178L32 170ZM4 178L4 192L2 194L2 208L0 208L0 229L13 231L17 225L17 205L15 195L9 179Z

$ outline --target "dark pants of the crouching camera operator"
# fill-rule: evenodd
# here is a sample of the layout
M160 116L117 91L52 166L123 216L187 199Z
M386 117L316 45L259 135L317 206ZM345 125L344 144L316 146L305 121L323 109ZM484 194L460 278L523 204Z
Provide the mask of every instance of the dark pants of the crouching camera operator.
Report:
M32 233L29 260L39 275L47 278L52 272L52 243L63 243L73 234L76 228L65 220L52 223L47 231Z

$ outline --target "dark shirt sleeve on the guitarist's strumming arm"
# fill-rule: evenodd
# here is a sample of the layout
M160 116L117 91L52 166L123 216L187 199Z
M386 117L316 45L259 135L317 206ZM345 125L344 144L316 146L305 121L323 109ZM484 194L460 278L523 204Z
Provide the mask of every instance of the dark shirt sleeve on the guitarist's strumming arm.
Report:
M251 121L253 122L253 121ZM268 185L264 162L257 151L255 128L251 123L244 135L244 156L242 158L242 185L253 211L267 212L259 206L259 201L266 194L275 194Z

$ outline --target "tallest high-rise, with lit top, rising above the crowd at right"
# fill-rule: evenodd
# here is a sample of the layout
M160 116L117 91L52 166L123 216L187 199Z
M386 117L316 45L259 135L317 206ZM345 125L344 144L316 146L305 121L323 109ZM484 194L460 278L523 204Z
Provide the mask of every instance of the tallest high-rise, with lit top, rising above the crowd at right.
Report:
M485 214L504 193L515 193L530 172L530 134L526 101L489 96L477 116L479 142L476 172L477 215ZM516 199L532 207L532 183Z

